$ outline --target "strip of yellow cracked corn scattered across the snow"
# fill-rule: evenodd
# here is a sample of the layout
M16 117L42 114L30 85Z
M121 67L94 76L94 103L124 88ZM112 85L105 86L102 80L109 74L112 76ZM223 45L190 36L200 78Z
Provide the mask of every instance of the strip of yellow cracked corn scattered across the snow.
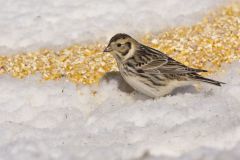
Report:
M240 59L240 3L222 7L193 26L148 33L141 42L187 66L214 73L222 64ZM59 51L42 49L0 56L0 74L24 78L41 73L44 80L64 77L74 83L96 83L106 72L117 71L113 57L102 52L105 45L79 44Z

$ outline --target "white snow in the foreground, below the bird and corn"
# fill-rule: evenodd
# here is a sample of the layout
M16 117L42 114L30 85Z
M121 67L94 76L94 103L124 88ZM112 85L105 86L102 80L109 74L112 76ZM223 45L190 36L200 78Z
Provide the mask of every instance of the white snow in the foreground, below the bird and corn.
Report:
M196 93L157 100L120 91L117 80L79 86L77 92L64 80L2 76L0 157L132 159L148 151L166 159L184 154L187 160L204 155L237 160L239 67L232 64L226 75L215 76L227 82L223 87L203 85Z

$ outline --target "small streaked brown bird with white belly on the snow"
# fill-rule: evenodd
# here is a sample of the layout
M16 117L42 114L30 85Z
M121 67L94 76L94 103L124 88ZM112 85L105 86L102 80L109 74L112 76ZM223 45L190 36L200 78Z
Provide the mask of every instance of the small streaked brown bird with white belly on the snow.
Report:
M113 55L123 79L134 90L148 97L163 97L178 87L195 82L216 86L225 84L199 75L207 70L187 67L125 33L114 35L103 52Z

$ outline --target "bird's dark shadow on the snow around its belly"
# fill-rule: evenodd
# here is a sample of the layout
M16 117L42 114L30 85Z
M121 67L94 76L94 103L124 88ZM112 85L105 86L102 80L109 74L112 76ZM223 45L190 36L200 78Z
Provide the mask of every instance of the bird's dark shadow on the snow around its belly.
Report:
M110 82L111 80L116 80L118 83L118 89L122 92L133 94L135 99L149 99L150 97L147 97L141 93L136 93L134 89L125 82L125 80L122 78L121 74L117 71L107 72L100 80L100 83L103 81ZM178 94L184 94L184 93L197 93L197 89L192 85L182 86L175 88L170 94L170 96L178 95ZM166 96L168 96L166 95Z

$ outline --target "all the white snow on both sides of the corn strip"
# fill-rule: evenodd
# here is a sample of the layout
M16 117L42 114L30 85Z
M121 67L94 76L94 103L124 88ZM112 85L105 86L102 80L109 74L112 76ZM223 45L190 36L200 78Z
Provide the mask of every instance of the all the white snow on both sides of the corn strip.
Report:
M222 3L1 0L0 51L158 31L193 23ZM226 82L223 87L203 84L198 92L156 100L121 91L116 79L75 86L1 76L0 159L238 160L239 68L236 62L212 77Z

